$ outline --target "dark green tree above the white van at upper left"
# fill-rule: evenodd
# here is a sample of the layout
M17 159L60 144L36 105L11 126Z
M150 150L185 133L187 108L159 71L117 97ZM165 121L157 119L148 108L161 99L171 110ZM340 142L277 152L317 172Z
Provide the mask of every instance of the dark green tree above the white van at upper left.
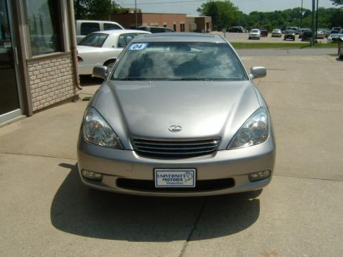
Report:
M119 8L112 0L74 0L76 19L108 20Z

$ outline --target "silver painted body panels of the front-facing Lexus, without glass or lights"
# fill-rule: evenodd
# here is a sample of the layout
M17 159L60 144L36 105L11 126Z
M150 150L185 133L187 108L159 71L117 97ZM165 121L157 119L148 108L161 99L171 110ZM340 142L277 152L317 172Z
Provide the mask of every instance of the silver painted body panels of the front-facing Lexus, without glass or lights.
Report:
M144 35L134 38L132 42L147 40L226 42L219 36L177 33ZM88 186L139 195L196 196L256 190L271 180L268 178L250 182L248 174L264 170L273 171L276 150L272 128L268 140L264 143L226 150L230 140L250 115L261 106L266 106L251 79L206 83L106 79L90 106L106 119L119 136L125 150L86 143L80 133L79 170L86 169L104 174L103 182L91 182L82 178ZM171 132L168 130L171 125L179 125L182 130L177 133ZM137 137L175 140L219 137L222 140L214 154L163 160L138 156L130 143L130 138ZM132 169L126 169L128 166ZM156 168L196 169L198 180L233 178L235 186L220 191L156 193L117 188L115 184L117 178L153 180L153 170Z

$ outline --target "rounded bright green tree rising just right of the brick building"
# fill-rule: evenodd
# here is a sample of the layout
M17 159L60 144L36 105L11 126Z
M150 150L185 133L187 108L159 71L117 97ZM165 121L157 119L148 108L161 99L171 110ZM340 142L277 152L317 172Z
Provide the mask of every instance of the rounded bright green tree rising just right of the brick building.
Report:
M213 29L221 30L237 23L241 12L231 1L209 1L197 10L200 14L212 17Z

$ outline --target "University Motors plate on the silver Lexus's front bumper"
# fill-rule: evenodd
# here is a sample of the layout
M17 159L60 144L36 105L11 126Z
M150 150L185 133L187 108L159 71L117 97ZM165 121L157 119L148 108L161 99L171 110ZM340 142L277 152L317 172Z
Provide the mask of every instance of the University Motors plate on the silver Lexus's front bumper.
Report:
M196 169L155 169L155 187L196 187Z

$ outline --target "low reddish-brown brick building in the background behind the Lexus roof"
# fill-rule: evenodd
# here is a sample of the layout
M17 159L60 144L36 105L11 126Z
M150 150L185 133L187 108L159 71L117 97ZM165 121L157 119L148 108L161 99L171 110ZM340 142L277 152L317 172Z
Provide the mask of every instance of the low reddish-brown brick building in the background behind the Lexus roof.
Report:
M111 16L111 20L126 29L136 27L136 14L130 8L127 12ZM137 9L137 26L169 27L176 32L211 32L211 17L187 16L187 14L147 13Z

